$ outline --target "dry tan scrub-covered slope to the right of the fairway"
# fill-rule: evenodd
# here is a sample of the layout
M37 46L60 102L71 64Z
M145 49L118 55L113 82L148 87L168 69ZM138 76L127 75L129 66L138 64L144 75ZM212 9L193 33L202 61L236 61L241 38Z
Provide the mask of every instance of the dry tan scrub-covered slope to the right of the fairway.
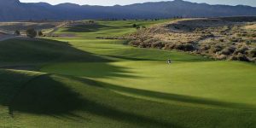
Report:
M256 18L183 19L128 36L142 48L177 49L218 60L256 61Z

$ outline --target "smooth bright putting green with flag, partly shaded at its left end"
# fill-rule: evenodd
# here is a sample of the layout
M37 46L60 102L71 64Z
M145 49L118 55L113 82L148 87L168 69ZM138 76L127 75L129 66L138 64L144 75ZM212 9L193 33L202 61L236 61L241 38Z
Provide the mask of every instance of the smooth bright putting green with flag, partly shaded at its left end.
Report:
M256 105L255 66L241 62L183 62L170 66L164 61L61 63L42 70L97 78L109 84L140 90Z

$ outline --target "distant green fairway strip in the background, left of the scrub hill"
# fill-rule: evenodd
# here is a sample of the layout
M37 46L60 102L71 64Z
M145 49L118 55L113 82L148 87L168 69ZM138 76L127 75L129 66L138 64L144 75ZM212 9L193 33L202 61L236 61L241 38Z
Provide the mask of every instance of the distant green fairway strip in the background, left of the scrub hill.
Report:
M106 36L121 36L127 33L136 32L133 24L138 26L151 26L153 24L166 22L167 20L117 20L117 21L96 21L96 25L80 25L60 28L57 34L73 33L78 37L93 38Z

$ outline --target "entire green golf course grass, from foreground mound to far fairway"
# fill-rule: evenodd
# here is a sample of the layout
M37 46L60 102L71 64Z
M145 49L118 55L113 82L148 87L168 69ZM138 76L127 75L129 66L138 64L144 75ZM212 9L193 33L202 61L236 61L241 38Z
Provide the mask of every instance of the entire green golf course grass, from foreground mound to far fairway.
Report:
M255 63L104 39L170 21L96 20L1 41L0 127L255 128Z

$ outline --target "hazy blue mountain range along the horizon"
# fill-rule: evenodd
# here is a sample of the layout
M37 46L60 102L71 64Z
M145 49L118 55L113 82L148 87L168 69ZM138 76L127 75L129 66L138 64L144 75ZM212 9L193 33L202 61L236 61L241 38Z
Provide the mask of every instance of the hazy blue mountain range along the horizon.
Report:
M209 5L174 0L158 3L136 3L125 6L90 6L73 3L20 3L0 0L0 20L81 20L81 19L154 19L183 17L218 17L256 15L250 6Z

